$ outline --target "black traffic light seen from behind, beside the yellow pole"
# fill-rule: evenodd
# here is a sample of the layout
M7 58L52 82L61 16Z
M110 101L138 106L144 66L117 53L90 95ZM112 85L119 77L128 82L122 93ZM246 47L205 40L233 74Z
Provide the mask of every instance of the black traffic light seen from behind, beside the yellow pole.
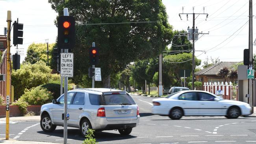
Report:
M13 45L23 44L23 24L14 21L13 23Z

